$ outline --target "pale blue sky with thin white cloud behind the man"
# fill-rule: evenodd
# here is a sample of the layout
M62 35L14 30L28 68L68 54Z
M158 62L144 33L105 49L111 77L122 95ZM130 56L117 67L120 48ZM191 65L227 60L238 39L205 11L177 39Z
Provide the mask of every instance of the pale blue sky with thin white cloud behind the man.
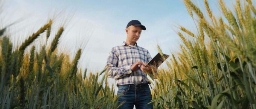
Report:
M205 10L203 0L192 1ZM217 0L208 1L213 14L220 16ZM234 0L224 1L233 8ZM139 20L146 27L137 44L152 57L158 53L157 44L168 55L179 51L179 26L196 32L183 0L1 0L1 4L0 26L14 23L8 29L14 47L51 18L54 24L49 41L42 36L33 44L49 44L58 28L64 26L59 52L73 59L82 48L79 67L94 73L104 69L111 48L125 41L130 20ZM203 14L207 15L205 11Z

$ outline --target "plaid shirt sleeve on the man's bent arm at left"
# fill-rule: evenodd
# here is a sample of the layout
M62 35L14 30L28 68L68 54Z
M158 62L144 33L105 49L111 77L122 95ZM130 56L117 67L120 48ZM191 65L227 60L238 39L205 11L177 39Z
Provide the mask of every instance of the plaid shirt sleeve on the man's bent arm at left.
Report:
M126 74L132 73L131 65L118 67L118 56L114 48L112 48L111 52L108 55L107 65L105 66L105 69L105 73L107 74L107 76L113 79L122 78Z

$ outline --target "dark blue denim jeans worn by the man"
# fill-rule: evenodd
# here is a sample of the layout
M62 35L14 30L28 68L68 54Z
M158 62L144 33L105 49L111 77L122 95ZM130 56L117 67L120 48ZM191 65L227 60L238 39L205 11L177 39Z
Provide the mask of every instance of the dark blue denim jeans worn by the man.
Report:
M119 109L133 109L134 105L136 109L153 109L153 104L148 104L152 100L148 84L119 85L117 96L118 105L125 101Z

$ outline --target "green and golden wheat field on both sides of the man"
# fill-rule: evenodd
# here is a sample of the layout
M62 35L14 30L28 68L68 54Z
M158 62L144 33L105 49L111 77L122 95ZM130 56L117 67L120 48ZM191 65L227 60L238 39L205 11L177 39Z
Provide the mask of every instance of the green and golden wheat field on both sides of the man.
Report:
M235 0L229 9L218 0L219 17L207 0L202 0L203 10L191 0L183 2L197 31L179 27L181 52L167 59L168 67L159 69L151 84L154 109L256 109L256 9L252 1ZM59 27L52 35L52 23L49 20L15 49L5 34L8 27L0 29L0 108L118 108L105 70L81 71L77 65L82 49L72 62L69 55L57 52L65 29ZM51 44L36 51L35 39L50 35L54 36ZM162 54L159 46L158 51Z

